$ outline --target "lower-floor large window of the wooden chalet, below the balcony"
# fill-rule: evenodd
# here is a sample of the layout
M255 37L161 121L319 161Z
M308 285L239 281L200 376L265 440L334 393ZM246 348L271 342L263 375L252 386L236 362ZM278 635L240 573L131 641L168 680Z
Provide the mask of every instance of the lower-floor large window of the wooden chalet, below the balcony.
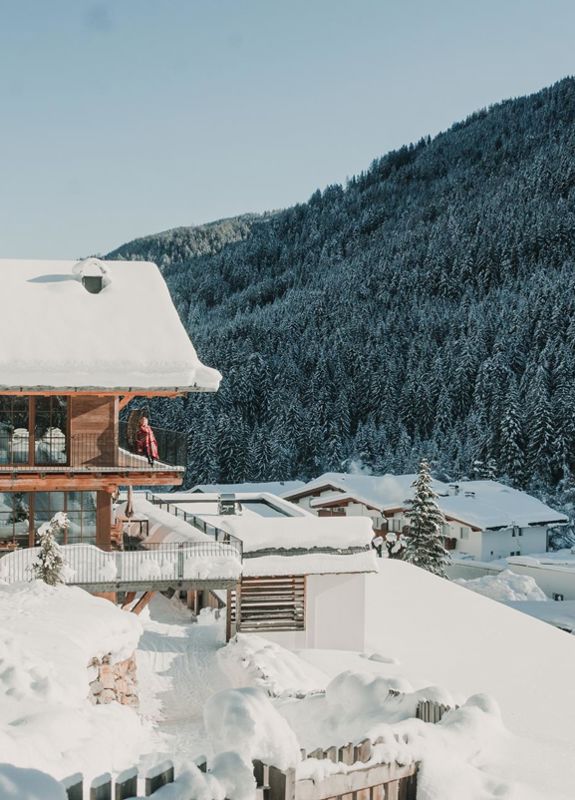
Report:
M96 492L4 492L0 493L0 544L34 543L40 525L58 511L64 511L69 522L66 535L59 536L61 544L96 542Z

